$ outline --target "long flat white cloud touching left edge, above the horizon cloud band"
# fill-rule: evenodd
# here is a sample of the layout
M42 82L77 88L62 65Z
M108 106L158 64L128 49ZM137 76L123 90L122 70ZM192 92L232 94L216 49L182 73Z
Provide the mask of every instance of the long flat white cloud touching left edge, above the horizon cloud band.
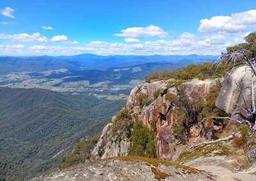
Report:
M29 35L28 33L20 33L20 34L0 34L0 40L10 40L10 41L48 41L45 36L41 36L40 33L33 33Z

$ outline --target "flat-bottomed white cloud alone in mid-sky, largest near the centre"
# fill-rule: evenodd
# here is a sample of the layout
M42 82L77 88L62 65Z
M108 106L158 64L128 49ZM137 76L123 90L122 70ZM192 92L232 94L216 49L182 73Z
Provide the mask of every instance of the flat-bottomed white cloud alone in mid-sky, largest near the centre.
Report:
M158 26L150 25L147 27L129 27L121 30L121 33L116 33L114 36L127 37L127 38L143 38L143 37L159 37L164 38L168 33L163 31Z

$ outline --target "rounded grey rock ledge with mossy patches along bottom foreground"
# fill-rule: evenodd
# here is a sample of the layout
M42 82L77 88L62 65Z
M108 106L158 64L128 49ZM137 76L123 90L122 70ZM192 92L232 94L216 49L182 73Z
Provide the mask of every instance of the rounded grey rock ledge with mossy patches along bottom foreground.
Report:
M113 157L56 171L41 180L215 180L206 171L146 157Z

